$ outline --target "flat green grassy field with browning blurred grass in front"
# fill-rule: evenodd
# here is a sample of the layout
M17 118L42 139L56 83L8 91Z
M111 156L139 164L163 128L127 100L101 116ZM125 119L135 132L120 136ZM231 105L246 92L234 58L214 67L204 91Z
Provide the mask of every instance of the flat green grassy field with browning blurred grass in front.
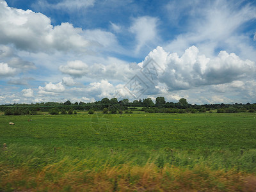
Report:
M0 191L254 191L255 117L1 115Z

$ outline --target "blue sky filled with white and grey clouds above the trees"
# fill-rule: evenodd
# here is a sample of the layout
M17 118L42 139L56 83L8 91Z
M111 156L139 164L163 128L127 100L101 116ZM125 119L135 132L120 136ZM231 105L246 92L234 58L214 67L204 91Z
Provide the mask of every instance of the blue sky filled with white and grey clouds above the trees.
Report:
M256 2L0 0L0 104L256 103Z

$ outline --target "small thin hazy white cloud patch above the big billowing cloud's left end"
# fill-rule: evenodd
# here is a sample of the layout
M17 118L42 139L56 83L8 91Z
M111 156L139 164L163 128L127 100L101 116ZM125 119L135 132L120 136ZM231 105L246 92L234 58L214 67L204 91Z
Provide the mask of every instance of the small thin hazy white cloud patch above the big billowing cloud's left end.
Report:
M140 51L143 46L148 46L150 42L156 40L157 20L155 17L148 16L134 19L130 31L136 36L136 52Z

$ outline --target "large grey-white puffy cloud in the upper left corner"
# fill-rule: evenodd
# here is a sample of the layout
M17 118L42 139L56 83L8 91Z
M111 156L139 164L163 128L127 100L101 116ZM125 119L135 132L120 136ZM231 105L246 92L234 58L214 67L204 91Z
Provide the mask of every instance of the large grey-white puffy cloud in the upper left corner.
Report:
M70 23L52 26L51 19L42 13L11 8L0 1L0 43L14 44L29 52L86 51L90 44L81 28Z

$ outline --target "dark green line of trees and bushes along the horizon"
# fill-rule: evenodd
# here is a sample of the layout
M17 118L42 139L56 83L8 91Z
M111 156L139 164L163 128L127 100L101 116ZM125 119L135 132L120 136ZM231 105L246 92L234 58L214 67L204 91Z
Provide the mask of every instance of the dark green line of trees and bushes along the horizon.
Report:
M131 109L145 111L146 113L204 113L217 110L217 113L239 113L256 112L254 104L189 104L187 99L181 98L179 102L166 102L164 97L157 97L155 102L151 98L138 99L129 102L128 99L103 98L95 102L40 102L36 104L8 104L1 105L0 111L5 115L36 115L38 111L49 112L49 114L76 114L77 111L103 111L103 113L132 113Z

